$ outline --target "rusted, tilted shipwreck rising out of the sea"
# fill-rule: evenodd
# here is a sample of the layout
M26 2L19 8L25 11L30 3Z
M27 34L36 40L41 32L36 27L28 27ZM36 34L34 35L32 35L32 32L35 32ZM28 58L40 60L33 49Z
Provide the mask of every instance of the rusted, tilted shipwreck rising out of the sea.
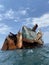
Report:
M10 32L4 41L2 50L34 48L43 45L42 32L36 33L37 27L37 24L32 29L23 26L21 33L13 34Z

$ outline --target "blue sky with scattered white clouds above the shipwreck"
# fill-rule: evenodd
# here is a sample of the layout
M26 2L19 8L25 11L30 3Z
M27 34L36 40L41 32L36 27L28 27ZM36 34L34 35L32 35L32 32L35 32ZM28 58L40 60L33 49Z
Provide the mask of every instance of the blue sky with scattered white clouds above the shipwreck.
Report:
M49 43L49 0L0 0L0 48L9 32L38 24Z

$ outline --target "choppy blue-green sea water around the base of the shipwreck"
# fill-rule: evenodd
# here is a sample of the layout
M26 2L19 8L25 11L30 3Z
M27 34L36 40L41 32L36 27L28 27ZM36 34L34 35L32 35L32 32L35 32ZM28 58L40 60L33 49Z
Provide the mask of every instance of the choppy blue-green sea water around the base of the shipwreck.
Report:
M49 44L40 48L0 51L0 65L49 65Z

